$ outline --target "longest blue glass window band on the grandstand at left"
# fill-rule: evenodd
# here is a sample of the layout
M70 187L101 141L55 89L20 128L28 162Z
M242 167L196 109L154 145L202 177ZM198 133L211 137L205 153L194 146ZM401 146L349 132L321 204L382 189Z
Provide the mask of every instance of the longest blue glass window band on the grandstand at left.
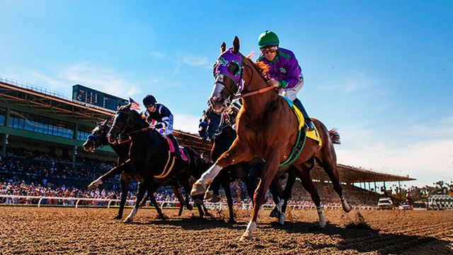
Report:
M71 123L13 110L9 115L9 127L40 132L46 135L74 137L74 125Z

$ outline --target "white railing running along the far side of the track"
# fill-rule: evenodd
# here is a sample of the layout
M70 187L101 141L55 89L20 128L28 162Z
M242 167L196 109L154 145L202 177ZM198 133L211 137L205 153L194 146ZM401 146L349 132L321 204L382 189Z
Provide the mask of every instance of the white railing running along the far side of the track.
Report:
M74 205L67 205L67 206L75 206L75 208L79 207L79 202L80 201L93 201L93 202L108 202L107 208L110 208L111 203L119 203L119 199L108 199L108 198L62 198L62 197L48 197L48 196L15 196L15 195L0 195L0 198L9 198L11 199L11 205L16 205L18 203L13 203L14 199L25 199L25 200L32 200L32 199L38 199L38 208L41 206L42 200L68 200L68 201L74 201ZM126 200L129 205L134 205L135 200ZM164 200L164 201L157 201L159 205L162 207L164 204L176 204L179 203L178 200ZM191 202L193 204L193 202ZM235 203L237 208L240 210L251 210L253 208L252 203ZM228 208L228 204L225 202L219 202L219 203L211 203L205 201L205 206L208 209L211 210L220 210L220 209L225 209ZM271 203L265 203L262 205L262 208L264 209L272 209L274 207L273 204ZM287 208L291 208L292 210L316 210L315 205L292 205L289 204L287 205ZM323 205L324 209L330 209L330 210L343 210L341 205ZM370 205L358 205L358 206L352 206L353 209L355 210L377 210L376 206L370 206Z

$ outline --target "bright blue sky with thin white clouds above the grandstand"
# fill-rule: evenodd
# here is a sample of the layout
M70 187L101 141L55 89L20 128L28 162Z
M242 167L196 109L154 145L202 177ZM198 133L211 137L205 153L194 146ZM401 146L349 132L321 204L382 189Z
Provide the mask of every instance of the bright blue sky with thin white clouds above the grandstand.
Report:
M338 162L453 180L453 1L0 1L0 76L71 96L153 94L196 132L212 64L273 30L302 66L299 98L338 128Z

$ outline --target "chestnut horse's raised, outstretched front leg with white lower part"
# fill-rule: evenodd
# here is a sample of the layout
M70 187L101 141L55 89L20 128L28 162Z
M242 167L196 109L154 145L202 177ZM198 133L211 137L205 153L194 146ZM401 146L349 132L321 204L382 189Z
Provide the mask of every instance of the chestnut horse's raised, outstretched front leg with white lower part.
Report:
M237 139L234 140L233 145L217 159L217 162L215 162L210 169L207 169L200 179L195 181L192 191L190 191L190 195L196 196L205 193L207 186L212 183L212 180L224 167L248 161L251 160L251 158L251 149L248 149L248 146L245 143L240 142Z

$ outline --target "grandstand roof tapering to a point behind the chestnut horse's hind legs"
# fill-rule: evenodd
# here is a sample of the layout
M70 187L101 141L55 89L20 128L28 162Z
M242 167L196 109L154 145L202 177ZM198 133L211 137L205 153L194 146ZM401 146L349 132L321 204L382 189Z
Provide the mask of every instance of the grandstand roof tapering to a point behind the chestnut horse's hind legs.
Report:
M355 166L337 165L340 181L343 183L359 183L374 181L414 181L409 176L396 176L393 174L384 174L367 169L357 168ZM326 172L320 166L311 171L311 177L320 181L331 181Z

